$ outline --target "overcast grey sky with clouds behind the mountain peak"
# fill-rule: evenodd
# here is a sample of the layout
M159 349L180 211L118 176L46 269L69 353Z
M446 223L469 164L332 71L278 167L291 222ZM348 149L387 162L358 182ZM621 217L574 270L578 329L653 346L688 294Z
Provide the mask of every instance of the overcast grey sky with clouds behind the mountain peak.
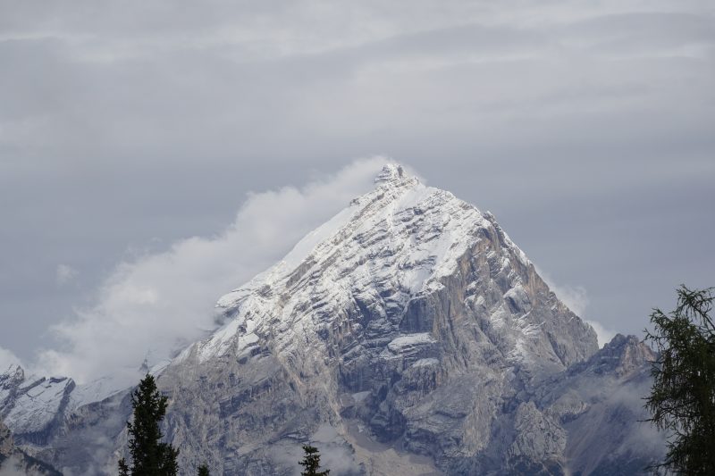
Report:
M376 154L641 335L715 285L714 85L711 0L0 0L0 363L200 337Z

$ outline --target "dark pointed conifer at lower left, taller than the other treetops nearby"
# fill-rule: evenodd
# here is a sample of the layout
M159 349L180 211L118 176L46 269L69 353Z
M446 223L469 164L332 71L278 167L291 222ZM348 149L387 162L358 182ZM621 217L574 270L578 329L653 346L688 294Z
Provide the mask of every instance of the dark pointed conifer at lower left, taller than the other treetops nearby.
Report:
M164 419L166 401L156 388L154 377L147 373L131 394L134 420L127 422L127 429L132 465L129 467L122 458L120 476L175 476L179 472L176 463L179 450L161 442L159 422Z

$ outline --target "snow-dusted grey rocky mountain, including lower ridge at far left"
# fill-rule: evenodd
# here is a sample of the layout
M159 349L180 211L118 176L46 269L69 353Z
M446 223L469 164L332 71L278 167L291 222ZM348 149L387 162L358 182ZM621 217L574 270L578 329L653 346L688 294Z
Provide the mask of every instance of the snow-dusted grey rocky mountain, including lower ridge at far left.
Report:
M158 378L187 471L297 474L308 441L332 474L633 474L663 451L637 422L648 347L599 350L490 213L398 166L218 306ZM11 380L0 415L27 447L113 471L126 391L43 380L33 406Z

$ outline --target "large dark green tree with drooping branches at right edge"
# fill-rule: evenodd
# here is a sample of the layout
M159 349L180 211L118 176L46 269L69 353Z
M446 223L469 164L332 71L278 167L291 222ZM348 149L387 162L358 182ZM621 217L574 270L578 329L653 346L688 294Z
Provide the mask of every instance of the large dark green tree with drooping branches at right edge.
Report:
M713 288L677 289L672 313L653 310L654 333L646 330L659 352L645 407L649 420L668 430L668 455L658 466L684 474L715 474L715 325L709 315Z

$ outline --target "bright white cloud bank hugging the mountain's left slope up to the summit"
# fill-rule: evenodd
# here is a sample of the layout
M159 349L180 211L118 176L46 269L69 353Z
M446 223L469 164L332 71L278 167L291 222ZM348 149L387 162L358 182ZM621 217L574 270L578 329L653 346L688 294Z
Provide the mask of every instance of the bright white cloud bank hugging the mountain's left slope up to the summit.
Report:
M357 161L302 188L250 194L222 234L120 263L97 289L95 305L52 328L63 348L42 351L38 362L80 382L108 374L133 381L145 358L160 363L214 330L218 297L372 188L385 161Z

